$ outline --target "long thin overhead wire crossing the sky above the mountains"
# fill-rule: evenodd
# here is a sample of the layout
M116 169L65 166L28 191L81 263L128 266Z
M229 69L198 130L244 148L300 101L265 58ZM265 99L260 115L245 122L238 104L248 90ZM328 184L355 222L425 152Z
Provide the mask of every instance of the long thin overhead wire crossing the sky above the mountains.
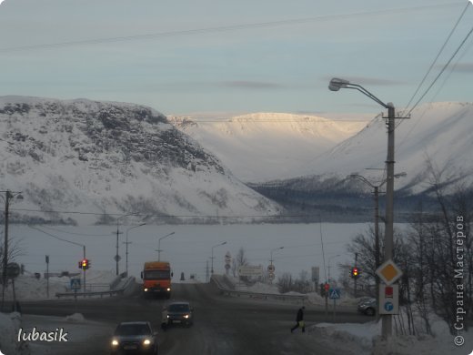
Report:
M80 41L68 41L68 42L58 42L52 44L43 44L43 45L33 45L33 46L15 46L15 47L5 47L0 48L0 53L13 53L19 51L28 51L35 49L54 49L61 48L65 46L85 46L85 45L98 45L103 43L113 43L113 42L125 42L125 41L135 41L143 39L156 39L156 38L165 38L170 36L184 36L184 35L201 35L207 33L216 33L216 32L232 32L239 31L250 28L264 28L264 27L276 27L280 25L302 25L305 23L315 22L315 21L327 21L335 18L352 18L354 16L366 16L366 15L383 15L383 14L394 14L394 13L403 13L403 12L412 12L412 11L423 11L428 8L433 7L450 7L457 6L458 4L437 4L437 5L423 5L423 6L412 6L412 7L399 7L391 8L384 10L373 10L373 11L364 11L356 12L351 14L338 14L338 15L320 15L313 17L304 17L296 18L290 20L279 20L279 21L268 21L268 22L259 22L253 24L243 24L243 25L224 25L216 27L206 27L206 28L196 28L190 30L176 30L176 31L166 31L155 34L145 34L145 35L126 35L126 36L117 36L117 37L106 37L106 38L96 38L96 39L87 39Z

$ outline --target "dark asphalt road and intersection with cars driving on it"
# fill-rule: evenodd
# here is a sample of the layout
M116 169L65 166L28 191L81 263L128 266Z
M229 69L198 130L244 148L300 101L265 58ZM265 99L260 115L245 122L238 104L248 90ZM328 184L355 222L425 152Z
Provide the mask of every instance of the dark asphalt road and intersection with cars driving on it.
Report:
M301 355L339 354L337 344L327 348L329 341L317 339L314 333L290 333L295 324L298 306L267 303L263 300L237 299L220 295L213 284L176 284L173 299L189 300L195 307L195 324L191 328L173 327L160 330L164 299L143 299L136 288L131 296L107 299L81 299L24 302L25 314L65 317L82 313L86 320L100 323L70 326L69 343L48 343L49 354L106 354L110 336L120 321L149 320L159 330L160 354L177 355ZM325 321L325 312L310 306L306 324ZM371 318L356 312L340 312L337 321L363 322ZM33 324L30 324L32 326ZM50 329L60 325L51 324ZM67 324L66 324L67 326ZM86 331L85 337L83 332ZM299 331L299 330L297 330ZM75 334L76 333L76 334ZM82 334L81 334L82 333ZM74 346L71 346L74 344ZM65 352L66 351L66 352ZM33 354L35 355L35 354Z

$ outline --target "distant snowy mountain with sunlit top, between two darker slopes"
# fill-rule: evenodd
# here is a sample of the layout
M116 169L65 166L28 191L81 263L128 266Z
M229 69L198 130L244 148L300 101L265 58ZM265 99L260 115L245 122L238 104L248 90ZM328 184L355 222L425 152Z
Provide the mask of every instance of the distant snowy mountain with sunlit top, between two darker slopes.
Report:
M226 121L168 117L243 181L296 177L315 157L356 134L365 122L257 113Z

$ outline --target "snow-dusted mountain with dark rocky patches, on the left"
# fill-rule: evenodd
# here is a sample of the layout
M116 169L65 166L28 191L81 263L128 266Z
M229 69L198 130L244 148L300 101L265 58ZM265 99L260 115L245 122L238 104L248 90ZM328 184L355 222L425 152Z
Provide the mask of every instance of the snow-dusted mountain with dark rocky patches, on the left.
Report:
M24 198L12 213L26 208L198 218L278 211L159 112L86 99L0 97L0 190L6 189L22 191Z

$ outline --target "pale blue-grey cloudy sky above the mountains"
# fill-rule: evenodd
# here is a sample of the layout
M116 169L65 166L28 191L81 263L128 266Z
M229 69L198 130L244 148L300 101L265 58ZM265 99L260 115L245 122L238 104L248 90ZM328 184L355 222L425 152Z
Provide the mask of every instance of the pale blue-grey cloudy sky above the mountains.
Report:
M330 78L403 108L462 13L421 93L471 30L469 1L5 0L0 96L204 117L377 114L354 90L329 91ZM471 100L472 46L473 35L422 102Z

